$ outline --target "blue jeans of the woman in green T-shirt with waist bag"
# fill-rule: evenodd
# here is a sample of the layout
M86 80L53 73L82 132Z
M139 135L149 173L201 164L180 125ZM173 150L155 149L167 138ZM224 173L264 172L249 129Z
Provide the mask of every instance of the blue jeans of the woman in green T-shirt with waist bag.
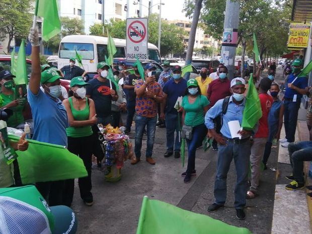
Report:
M187 148L188 148L188 161L187 161L187 169L186 173L191 174L193 170L195 170L195 153L196 148L199 147L206 134L207 134L207 128L205 124L200 124L195 127L193 127L193 137L191 140L186 139Z

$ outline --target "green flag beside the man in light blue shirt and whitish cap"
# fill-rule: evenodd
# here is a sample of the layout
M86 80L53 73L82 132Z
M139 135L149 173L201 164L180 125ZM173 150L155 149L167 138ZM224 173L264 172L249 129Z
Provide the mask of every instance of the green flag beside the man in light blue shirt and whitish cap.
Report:
M262 116L261 103L258 92L253 83L253 73L250 74L248 92L243 112L242 128L252 130Z

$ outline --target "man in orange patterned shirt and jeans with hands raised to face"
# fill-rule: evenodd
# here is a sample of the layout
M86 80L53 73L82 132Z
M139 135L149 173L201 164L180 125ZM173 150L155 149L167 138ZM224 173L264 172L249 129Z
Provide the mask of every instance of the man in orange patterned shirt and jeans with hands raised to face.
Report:
M145 125L147 126L146 162L151 165L155 161L151 158L154 145L155 128L157 122L157 103L164 101L161 86L155 81L155 76L148 76L146 81L140 79L135 84L135 159L131 164L137 164L141 158L142 137Z

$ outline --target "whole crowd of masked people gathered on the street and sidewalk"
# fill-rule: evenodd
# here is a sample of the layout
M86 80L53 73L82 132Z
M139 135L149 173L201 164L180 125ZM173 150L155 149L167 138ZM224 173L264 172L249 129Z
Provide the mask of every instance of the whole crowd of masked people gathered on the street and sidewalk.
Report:
M259 91L262 117L254 129L241 129L238 132L240 137L233 138L227 123L233 120L242 123L248 77L229 80L227 67L223 64L219 64L216 72L211 74L207 68L202 68L196 79L186 81L182 77L181 66L170 66L169 61L164 61L164 71L158 80L153 72L156 67L152 63L144 67L144 77L141 77L138 62L133 64L132 73L123 61L113 67L99 62L98 74L86 82L87 73L74 65L74 58L70 58L69 65L60 71L47 65L40 66L36 30L31 30L29 39L32 43L32 73L27 92L28 102L18 103L15 100L14 75L4 70L0 72L1 106L14 111L14 115L8 120L8 126L11 127L24 122L22 112L30 108L34 122L32 139L66 146L83 160L88 176L79 178L79 189L86 205L93 205L92 155L97 158L98 166L101 166L104 158L99 146L97 124L125 126L124 133L128 134L133 130L131 126L134 117L135 157L131 164L135 165L141 160L143 134L147 135L146 162L156 164L152 157L155 130L157 125L164 125L167 139L165 158L172 155L176 159L181 157L179 131L187 142L187 169L182 173L185 183L189 183L196 175L196 150L202 146L206 136L213 138L212 150L218 152L218 160L214 184L215 202L208 207L210 212L217 211L225 203L227 173L234 160L237 173L236 215L239 219L245 219L246 199L260 195L258 187L261 164L264 164L264 169L267 168L271 147L280 138L283 118L286 139L280 139L280 142L283 147L288 147L293 168L293 175L288 177L292 182L286 188L296 190L304 186L302 162L311 160L311 155L304 151L310 150L307 147L312 145L310 141L293 143L296 131L294 123L297 122L301 98L309 94L306 77L298 77L303 67L301 59L295 59L292 63L283 101L279 98L279 85L274 82L275 69L270 68L267 77L261 77L262 65L258 66L253 82ZM118 87L108 79L110 68L113 69ZM63 93L60 85L63 77L70 80L69 97ZM124 122L122 115L126 115ZM27 150L27 144L27 140L22 137L14 147L17 150ZM8 180L4 183L3 180L8 178L4 173L10 173L12 178L18 177L18 165L14 165L13 174L8 170L11 166L3 165L2 162L0 165L0 187L20 185L12 179L11 183L7 183ZM3 168L7 170L2 170ZM73 179L39 182L36 187L49 205L70 207L74 192Z

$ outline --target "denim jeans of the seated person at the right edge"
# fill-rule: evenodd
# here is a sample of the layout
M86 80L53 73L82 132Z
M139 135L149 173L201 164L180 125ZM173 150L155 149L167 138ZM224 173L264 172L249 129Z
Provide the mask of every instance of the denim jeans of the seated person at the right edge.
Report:
M295 181L304 183L303 162L312 161L312 141L290 143L288 145L288 152Z

